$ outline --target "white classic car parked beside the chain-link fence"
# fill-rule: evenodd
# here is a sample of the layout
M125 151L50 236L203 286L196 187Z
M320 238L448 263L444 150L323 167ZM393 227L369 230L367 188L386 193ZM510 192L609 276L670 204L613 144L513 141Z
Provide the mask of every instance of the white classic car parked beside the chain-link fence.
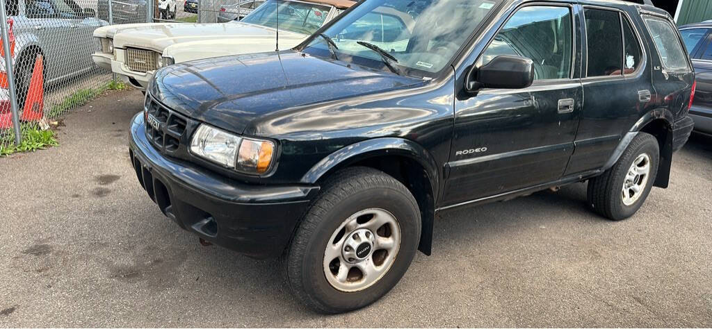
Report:
M277 10L279 4L279 11ZM268 0L242 21L140 23L94 30L101 50L94 63L144 90L155 70L188 60L293 48L355 1Z

